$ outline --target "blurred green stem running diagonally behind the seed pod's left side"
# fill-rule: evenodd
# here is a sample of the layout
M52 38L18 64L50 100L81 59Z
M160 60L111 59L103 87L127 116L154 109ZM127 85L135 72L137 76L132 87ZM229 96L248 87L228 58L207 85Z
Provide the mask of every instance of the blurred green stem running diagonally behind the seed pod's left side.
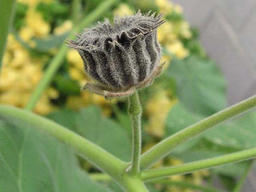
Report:
M92 11L89 15L87 15L81 24L77 27L75 27L68 39L73 39L75 37L75 32L80 32L84 27L88 26L95 20L97 20L100 16L102 16L103 13L109 10L109 8L112 7L114 3L117 3L118 0L106 0L103 3L101 3L95 10ZM68 47L63 44L59 52L54 56L51 63L49 64L48 68L46 69L44 76L41 78L38 86L36 87L35 91L33 92L33 95L31 99L28 101L26 109L27 110L33 110L35 107L36 102L40 99L42 93L47 88L47 86L51 83L54 75L57 73L60 65L62 64L62 61L64 60L65 54L68 51Z

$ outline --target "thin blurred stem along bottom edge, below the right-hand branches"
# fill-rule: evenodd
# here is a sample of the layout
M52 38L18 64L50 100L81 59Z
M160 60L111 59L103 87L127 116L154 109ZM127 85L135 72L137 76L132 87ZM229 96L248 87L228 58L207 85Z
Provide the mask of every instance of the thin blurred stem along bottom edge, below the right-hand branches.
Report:
M193 183L187 183L187 182L179 182L179 181L170 181L170 179L159 179L151 181L150 183L157 183L157 184L164 184L164 185L174 185L175 187L181 187L181 188L187 188L187 189L194 189L199 190L202 192L223 192L221 190L217 190L210 187L203 187L201 185L196 185Z

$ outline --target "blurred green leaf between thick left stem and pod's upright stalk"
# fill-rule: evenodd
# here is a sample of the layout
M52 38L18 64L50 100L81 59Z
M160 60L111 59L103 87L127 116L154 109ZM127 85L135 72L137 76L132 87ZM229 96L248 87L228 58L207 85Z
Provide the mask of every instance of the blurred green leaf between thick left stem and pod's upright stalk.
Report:
M92 106L80 112L62 109L47 117L77 132L114 156L130 161L130 135L119 123L103 117L99 108Z

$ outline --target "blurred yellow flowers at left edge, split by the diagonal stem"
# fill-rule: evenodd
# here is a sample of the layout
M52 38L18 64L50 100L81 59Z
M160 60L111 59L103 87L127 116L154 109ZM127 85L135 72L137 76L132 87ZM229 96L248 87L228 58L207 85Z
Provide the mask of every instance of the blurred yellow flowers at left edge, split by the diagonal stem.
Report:
M28 51L15 40L14 35L10 34L1 69L0 103L25 107L42 77L44 62L41 58L32 58ZM48 89L36 104L35 112L50 113L53 110L50 99L57 96L57 91Z

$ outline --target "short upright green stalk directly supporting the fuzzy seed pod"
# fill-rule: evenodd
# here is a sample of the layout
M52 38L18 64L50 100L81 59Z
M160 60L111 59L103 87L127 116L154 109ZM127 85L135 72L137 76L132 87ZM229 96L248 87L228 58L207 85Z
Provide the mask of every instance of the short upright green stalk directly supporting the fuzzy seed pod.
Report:
M131 173L138 175L139 173L139 157L141 156L141 112L142 107L139 102L139 95L135 94L129 97L128 112L132 119L132 164Z

